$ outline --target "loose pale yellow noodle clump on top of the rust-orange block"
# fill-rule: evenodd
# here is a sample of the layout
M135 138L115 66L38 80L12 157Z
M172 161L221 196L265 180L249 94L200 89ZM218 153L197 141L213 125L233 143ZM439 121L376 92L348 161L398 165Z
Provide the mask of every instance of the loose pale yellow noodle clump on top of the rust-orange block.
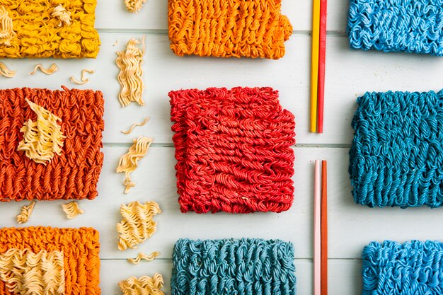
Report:
M28 99L26 102L37 114L37 120L28 120L20 129L23 140L18 144L18 151L25 151L28 158L46 165L55 154L62 154L63 140L66 137L57 123L62 119Z

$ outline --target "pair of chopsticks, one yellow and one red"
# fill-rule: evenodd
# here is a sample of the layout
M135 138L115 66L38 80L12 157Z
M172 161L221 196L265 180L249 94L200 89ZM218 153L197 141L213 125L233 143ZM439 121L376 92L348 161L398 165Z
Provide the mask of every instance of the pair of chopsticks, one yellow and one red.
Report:
M311 132L323 133L328 0L313 0L311 63Z

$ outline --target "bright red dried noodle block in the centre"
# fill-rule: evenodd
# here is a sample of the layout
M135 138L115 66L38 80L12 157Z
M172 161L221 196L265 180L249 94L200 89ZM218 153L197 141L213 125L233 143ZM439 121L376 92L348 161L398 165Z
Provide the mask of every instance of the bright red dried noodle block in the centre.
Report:
M182 212L283 212L294 200L294 115L272 88L171 91Z

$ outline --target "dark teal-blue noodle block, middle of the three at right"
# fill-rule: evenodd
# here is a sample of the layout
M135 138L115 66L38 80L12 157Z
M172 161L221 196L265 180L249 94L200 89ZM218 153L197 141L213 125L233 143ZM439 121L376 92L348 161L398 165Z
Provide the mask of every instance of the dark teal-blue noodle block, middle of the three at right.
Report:
M357 104L349 152L355 202L441 207L443 91L366 93Z

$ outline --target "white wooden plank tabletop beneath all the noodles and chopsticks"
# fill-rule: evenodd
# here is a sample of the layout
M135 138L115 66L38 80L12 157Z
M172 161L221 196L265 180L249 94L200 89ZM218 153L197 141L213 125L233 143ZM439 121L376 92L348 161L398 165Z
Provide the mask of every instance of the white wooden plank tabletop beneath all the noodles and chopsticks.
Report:
M102 45L97 59L57 60L59 71L52 76L38 73L29 76L33 66L54 60L6 59L17 69L14 79L0 79L1 88L38 87L57 89L92 88L105 96L105 163L98 184L99 196L81 201L85 214L67 221L60 204L38 202L25 226L91 226L100 231L103 294L120 294L117 282L131 276L153 275L165 278L170 293L171 253L178 238L281 238L295 245L297 290L312 294L313 255L313 160L328 160L329 196L329 294L360 294L362 291L362 248L370 241L392 239L439 239L443 222L442 209L370 209L352 199L348 149L352 140L350 122L357 108L356 98L366 91L438 91L443 87L443 59L418 54L386 54L350 50L345 34L347 0L329 0L328 47L326 54L325 133L311 134L309 127L309 89L311 58L311 1L283 0L282 13L294 26L286 43L287 54L278 61L263 59L219 59L176 57L169 49L167 1L148 0L141 12L125 11L123 0L98 0L96 28ZM117 93L118 69L115 52L124 49L131 37L146 36L144 81L146 106L132 104L120 108ZM117 46L113 46L119 40ZM96 74L90 82L76 86L69 76L79 78L81 69ZM284 108L296 116L297 146L294 147L295 200L292 209L282 214L181 214L177 202L174 149L169 116L168 91L180 88L227 88L233 86L272 86L280 91ZM120 133L149 115L150 122L130 135ZM117 161L134 137L154 137L152 148L132 174L137 183L124 195L124 176L115 173ZM156 216L158 231L139 250L117 250L115 224L120 221L122 203L154 200L163 209ZM15 216L24 203L0 204L0 226L18 226ZM27 203L25 203L27 204ZM139 251L159 250L154 262L130 265L125 258Z

